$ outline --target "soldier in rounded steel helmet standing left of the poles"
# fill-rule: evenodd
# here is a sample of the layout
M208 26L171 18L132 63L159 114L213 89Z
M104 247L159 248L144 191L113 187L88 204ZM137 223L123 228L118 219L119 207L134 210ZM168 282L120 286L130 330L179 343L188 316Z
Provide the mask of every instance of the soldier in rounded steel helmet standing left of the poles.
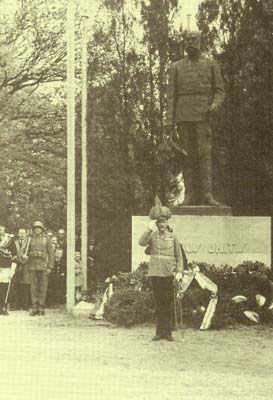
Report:
M32 300L31 316L44 315L48 286L48 275L54 266L54 251L51 240L45 235L45 227L41 221L32 225L33 234L28 251L28 269Z

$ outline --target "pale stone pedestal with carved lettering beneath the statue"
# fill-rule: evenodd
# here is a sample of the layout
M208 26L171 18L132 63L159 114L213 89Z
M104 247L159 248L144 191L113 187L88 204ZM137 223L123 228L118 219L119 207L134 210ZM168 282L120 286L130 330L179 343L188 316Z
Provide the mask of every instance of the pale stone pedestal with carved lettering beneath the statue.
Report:
M212 211L218 215L209 214ZM229 207L177 207L173 212L176 215L170 219L170 226L181 241L189 262L236 266L249 260L270 267L271 218L233 217ZM140 262L149 261L144 247L138 244L148 223L147 216L132 218L133 269Z

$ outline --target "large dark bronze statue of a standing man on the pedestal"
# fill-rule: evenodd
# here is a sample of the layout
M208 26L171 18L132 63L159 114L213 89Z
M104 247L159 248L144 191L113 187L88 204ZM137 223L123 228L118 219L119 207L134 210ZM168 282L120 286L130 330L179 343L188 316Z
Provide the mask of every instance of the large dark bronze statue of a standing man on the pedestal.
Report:
M224 100L219 65L201 53L201 35L189 32L187 56L170 68L166 126L177 127L188 153L183 163L183 205L219 206L212 191L212 131L210 121Z

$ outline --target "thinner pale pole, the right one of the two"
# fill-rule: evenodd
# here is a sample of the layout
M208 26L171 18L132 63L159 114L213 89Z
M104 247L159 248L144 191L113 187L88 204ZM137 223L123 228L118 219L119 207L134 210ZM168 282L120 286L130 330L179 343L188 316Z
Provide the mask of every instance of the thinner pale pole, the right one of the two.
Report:
M87 15L82 16L82 196L81 196L81 261L83 289L87 289Z

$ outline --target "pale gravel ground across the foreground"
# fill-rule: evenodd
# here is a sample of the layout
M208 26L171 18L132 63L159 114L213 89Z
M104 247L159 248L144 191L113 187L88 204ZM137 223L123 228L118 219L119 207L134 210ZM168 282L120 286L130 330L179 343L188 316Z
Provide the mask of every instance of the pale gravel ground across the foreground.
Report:
M1 398L6 400L272 399L273 329L201 332L151 342L153 326L117 328L12 312L0 317Z

